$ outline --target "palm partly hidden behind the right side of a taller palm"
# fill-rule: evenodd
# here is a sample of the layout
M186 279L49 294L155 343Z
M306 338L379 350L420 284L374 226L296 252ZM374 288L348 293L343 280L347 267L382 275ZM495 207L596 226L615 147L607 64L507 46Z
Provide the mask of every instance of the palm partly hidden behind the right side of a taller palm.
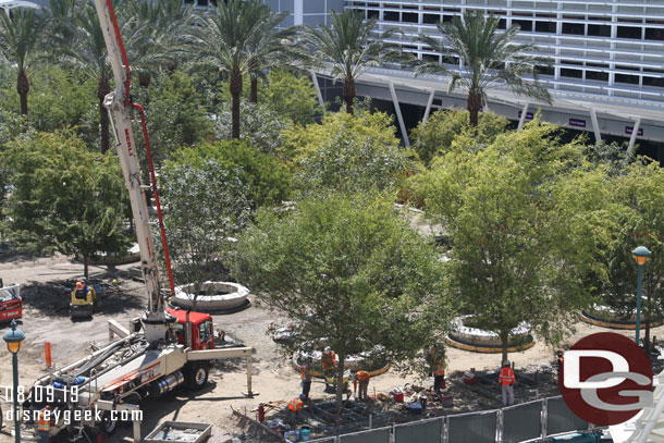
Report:
M258 102L258 78L265 79L266 70L288 66L292 61L302 58L303 47L293 42L297 28L294 26L286 29L276 28L287 15L288 12L276 14L266 5L262 9L262 24L251 36L248 48L251 56L249 79L253 103Z

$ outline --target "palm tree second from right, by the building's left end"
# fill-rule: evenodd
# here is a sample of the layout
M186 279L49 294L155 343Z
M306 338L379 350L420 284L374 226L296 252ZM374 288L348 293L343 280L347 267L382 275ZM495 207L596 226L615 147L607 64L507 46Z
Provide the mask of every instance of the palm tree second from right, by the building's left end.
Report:
M343 82L346 112L353 114L357 77L371 66L401 60L402 52L397 47L383 42L394 35L393 29L374 33L377 19L365 21L364 14L355 10L330 12L332 26L306 26L304 39L313 48L313 60L329 66L333 78Z

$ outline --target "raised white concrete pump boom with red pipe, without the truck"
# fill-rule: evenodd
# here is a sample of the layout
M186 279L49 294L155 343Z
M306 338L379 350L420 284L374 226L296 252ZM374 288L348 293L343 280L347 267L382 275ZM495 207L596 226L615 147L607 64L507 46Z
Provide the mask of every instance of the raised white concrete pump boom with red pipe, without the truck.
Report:
M103 33L103 39L109 51L113 79L115 81L115 90L106 96L103 106L109 110L111 126L115 136L118 157L122 164L125 186L130 193L132 214L140 250L140 270L148 292L148 306L142 320L146 339L148 342L152 343L164 339L169 328L168 323L172 321L172 318L168 316L164 310L163 296L160 291L157 251L150 232L149 207L146 198L147 190L152 192L156 200L171 294L174 294L168 243L163 227L161 206L159 204L159 193L157 190L157 177L152 164L145 112L140 104L133 102L130 95L132 71L122 42L122 36L120 35L120 28L115 20L112 0L94 1ZM151 175L151 187L143 185L142 183L136 150L137 146L134 143L134 133L132 131L132 110L136 111L140 116L145 148Z

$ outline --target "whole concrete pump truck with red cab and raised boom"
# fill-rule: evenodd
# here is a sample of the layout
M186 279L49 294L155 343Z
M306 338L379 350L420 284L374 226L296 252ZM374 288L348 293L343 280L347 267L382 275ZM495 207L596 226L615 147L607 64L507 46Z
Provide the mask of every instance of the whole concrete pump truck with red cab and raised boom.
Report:
M23 404L23 416L34 417L50 408L52 435L67 429L74 436L91 432L111 434L119 411L138 410L145 397L164 394L181 384L200 389L207 383L211 360L245 358L247 395L251 396L250 347L223 347L213 340L212 318L207 313L165 309L146 192L151 190L157 213L171 294L173 278L162 222L157 180L143 108L130 95L131 69L124 50L112 0L94 0L109 51L115 89L104 99L115 136L125 186L140 249L140 270L148 306L142 318L125 329L109 321L106 346L37 380ZM132 112L140 116L151 186L142 184L137 146L132 132ZM27 411L27 414L26 414ZM69 413L66 413L69 411ZM60 413L60 414L58 414ZM64 414L66 413L66 414ZM133 415L132 417L134 417ZM134 421L134 441L140 441L140 422Z

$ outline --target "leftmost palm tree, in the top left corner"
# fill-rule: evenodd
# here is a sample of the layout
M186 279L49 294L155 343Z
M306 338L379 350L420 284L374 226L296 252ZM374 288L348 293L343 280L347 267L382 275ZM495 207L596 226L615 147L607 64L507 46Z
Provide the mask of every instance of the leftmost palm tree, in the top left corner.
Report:
M21 115L27 115L30 84L27 70L35 60L42 20L33 9L16 8L10 14L0 11L0 54L16 67L16 91Z

